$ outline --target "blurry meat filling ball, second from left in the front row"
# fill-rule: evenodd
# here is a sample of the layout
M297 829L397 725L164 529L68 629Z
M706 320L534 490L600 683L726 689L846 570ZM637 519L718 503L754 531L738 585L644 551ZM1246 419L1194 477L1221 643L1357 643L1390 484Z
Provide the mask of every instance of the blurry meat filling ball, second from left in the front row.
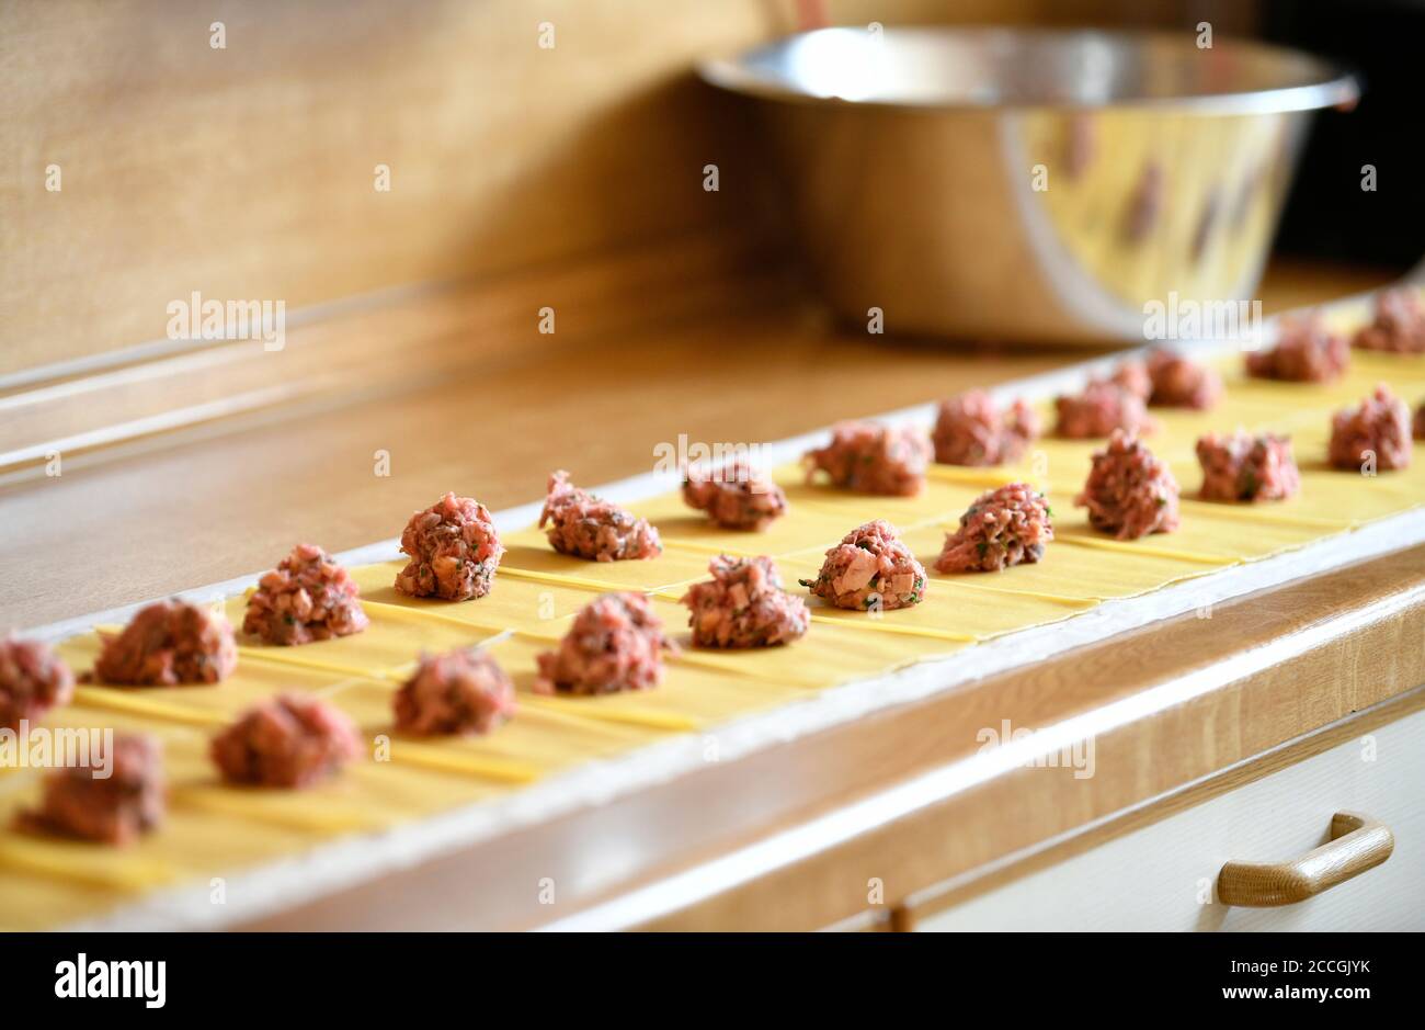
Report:
M281 695L248 709L212 739L209 753L231 783L302 787L356 758L361 742L326 702Z

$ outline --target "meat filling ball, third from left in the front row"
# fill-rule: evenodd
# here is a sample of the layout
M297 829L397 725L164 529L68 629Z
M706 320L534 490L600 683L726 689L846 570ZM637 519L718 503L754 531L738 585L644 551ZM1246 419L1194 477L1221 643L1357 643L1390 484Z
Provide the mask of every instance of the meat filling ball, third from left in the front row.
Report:
M395 706L402 733L484 735L514 715L514 683L483 651L422 655Z

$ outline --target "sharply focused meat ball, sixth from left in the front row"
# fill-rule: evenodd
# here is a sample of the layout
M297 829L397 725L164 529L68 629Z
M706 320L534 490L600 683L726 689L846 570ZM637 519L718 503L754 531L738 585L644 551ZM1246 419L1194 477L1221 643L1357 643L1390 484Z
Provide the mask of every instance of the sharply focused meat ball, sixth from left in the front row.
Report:
M866 522L826 552L815 579L798 581L836 608L909 608L925 596L925 568L901 542L893 525Z

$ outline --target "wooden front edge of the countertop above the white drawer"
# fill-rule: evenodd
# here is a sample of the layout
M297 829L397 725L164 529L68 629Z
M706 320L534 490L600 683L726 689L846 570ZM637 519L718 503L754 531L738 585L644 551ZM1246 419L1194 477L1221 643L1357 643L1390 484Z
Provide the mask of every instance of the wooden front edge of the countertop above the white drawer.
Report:
M922 702L710 763L668 783L393 873L264 920L256 929L470 929L564 919L650 883L695 875L768 840L777 860L704 897L641 920L650 929L815 929L980 870L1094 820L1159 800L1425 682L1425 546L1120 635ZM1371 621L1359 612L1388 609ZM1341 632L1337 632L1337 631ZM1298 639L1292 656L1241 675L1238 653ZM916 809L811 853L792 837L849 805L942 769L980 748L979 729L1052 726L1146 685L1186 675L1221 682L1191 702L1094 735L1096 773L1017 768L966 782ZM1089 730L1092 732L1092 729ZM822 830L817 830L821 833ZM475 894L472 869L502 876ZM527 870L561 884L539 902ZM356 914L359 913L359 914Z

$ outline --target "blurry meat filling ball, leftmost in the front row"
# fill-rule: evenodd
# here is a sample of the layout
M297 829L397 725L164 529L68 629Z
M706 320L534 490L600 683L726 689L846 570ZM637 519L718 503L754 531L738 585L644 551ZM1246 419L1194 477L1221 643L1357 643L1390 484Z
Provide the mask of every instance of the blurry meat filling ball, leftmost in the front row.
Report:
M97 777L108 763L108 776ZM150 736L121 733L113 749L87 766L56 769L44 780L40 809L21 825L105 845L127 845L164 817L162 749Z

